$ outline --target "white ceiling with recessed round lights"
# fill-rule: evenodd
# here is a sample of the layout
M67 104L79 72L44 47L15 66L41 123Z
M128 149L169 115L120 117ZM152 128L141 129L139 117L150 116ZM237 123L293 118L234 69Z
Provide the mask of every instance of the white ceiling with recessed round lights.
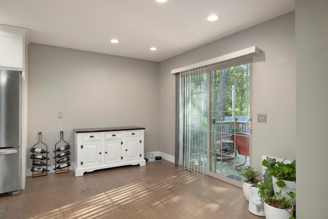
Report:
M293 10L295 0L0 0L0 24L29 29L32 43L160 62Z

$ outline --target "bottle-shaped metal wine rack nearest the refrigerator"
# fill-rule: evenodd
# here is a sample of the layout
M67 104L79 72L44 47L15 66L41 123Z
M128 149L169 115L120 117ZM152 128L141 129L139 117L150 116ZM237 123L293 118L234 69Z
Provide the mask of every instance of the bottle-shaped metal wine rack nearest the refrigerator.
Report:
M41 152L43 150L43 152ZM32 177L48 175L48 146L42 142L42 132L38 133L38 142L30 150L32 152Z

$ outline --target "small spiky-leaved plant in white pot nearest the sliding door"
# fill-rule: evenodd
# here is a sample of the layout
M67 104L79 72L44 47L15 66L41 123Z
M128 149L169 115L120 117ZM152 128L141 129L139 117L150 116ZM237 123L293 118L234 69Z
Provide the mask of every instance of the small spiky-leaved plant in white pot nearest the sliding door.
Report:
M241 180L242 191L244 193L246 200L249 202L251 186L260 182L257 177L260 176L261 174L259 173L259 171L255 171L254 168L251 166L248 166L244 169L240 168L240 171L241 173L239 173L239 175L243 177L243 179Z

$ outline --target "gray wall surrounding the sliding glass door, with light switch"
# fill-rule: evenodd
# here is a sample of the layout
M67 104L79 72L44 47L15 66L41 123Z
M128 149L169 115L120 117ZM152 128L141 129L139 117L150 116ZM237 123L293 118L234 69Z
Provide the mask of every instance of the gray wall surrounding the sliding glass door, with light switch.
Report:
M175 78L171 70L251 46L263 54L253 65L252 165L262 169L261 156L296 157L295 13L291 12L159 64L159 151L174 155ZM267 123L257 114L267 113Z

